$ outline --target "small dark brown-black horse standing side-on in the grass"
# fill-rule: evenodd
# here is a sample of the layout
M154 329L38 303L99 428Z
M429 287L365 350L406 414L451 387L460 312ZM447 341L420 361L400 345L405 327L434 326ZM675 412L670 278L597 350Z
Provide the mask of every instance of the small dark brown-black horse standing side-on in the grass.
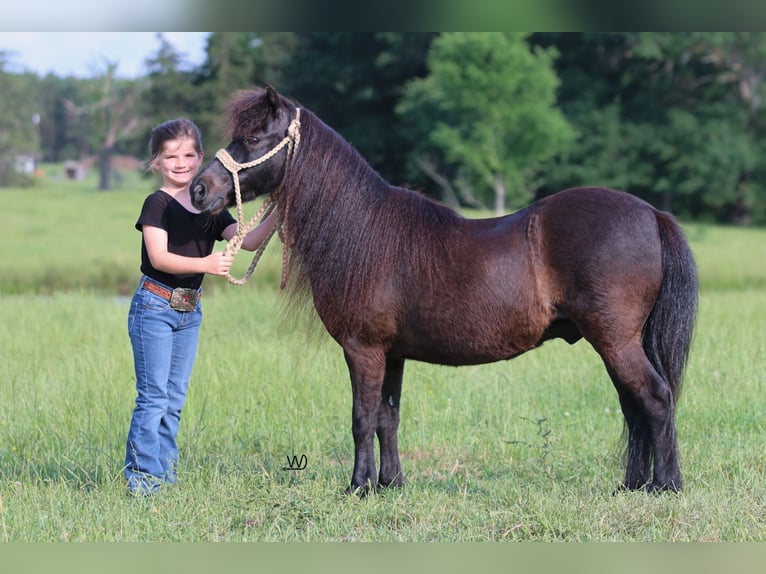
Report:
M271 87L235 95L230 130L221 161L192 183L192 201L210 212L233 205L237 177L243 200L278 201L290 292L313 297L348 364L351 490L402 483L406 359L488 363L554 337L587 340L617 390L628 429L622 487L681 488L675 407L698 288L669 214L587 187L505 217L465 219L386 183Z

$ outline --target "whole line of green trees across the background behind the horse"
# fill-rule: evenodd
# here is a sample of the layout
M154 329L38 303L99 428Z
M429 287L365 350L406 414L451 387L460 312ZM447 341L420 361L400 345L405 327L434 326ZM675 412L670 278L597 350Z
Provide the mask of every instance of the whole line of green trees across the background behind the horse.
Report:
M177 116L225 143L226 102L271 83L388 181L453 205L516 209L560 189L624 189L692 220L766 224L766 34L215 32L190 65L162 34L138 79L8 70L0 185L19 158L147 159ZM25 179L27 178L27 179Z

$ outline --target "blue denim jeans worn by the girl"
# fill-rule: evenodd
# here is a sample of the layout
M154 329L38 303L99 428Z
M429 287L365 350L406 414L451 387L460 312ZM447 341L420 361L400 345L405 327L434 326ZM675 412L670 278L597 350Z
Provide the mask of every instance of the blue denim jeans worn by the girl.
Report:
M143 289L141 278L130 303L128 333L136 371L136 406L125 454L131 491L152 493L175 482L178 425L197 355L202 304L176 311Z

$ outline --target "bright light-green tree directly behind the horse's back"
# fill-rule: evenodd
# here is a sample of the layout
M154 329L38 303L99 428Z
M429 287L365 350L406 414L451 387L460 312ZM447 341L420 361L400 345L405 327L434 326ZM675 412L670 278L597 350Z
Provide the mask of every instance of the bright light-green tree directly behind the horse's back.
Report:
M497 213L528 203L539 166L573 138L556 108L555 57L520 33L445 33L429 51L429 75L407 86L400 112L425 105L440 118L430 142L492 191Z

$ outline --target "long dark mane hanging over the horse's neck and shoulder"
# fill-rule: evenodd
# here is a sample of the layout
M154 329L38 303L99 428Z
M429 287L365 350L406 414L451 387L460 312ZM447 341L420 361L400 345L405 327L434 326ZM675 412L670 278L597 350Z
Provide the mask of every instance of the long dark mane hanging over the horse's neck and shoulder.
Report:
M374 287L393 277L408 281L417 273L428 285L440 283L445 240L463 221L418 192L388 184L306 109L281 193L291 298L310 293L318 310L337 310L322 319L339 333L369 312Z

